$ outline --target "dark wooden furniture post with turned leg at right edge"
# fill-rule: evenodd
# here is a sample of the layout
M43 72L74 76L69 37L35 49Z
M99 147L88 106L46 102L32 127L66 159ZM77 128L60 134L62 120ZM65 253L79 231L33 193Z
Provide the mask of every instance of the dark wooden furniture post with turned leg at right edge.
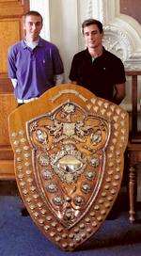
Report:
M136 219L136 191L137 191L137 172L136 165L141 163L141 131L138 130L138 79L141 71L126 72L126 75L132 77L132 113L131 113L131 133L129 137L128 152L128 174L129 174L129 202L130 202L130 221L133 223Z

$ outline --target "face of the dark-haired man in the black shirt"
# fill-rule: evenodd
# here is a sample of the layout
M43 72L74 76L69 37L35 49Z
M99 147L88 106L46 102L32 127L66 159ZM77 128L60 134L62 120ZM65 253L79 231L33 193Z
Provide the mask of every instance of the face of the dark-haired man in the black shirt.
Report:
M90 24L84 28L84 37L86 40L87 48L97 48L102 46L102 37L103 33L100 33L100 30L97 24Z

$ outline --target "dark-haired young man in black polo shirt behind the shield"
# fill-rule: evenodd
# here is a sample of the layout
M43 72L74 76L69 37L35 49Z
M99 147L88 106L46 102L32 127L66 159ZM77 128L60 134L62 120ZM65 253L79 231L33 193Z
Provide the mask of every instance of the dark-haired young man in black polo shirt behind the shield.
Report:
M120 104L125 97L125 72L118 56L102 46L102 23L88 19L82 24L86 50L73 56L71 83L83 86L96 96Z

